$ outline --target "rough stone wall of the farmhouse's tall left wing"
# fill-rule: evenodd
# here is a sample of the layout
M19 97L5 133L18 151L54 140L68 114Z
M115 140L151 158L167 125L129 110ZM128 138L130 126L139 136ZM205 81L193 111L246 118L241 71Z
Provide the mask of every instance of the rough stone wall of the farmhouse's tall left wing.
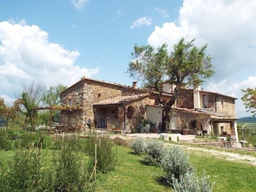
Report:
M82 78L81 81L78 81L76 84L73 84L67 90L65 90L65 92L61 93L61 105L69 106L69 102L71 100L71 106L83 109L79 115L77 124L79 124L80 127L84 126L90 118L90 120L92 120L92 127L94 127L94 114L97 112L100 115L100 109L93 109L93 104L99 102L100 100L109 99L124 94L143 92L145 91L128 86L122 86L120 84L111 84L93 79ZM124 116L124 110L122 108L118 108L116 111L116 114L122 113L122 116ZM102 113L103 112L104 111L102 111ZM104 113L109 112L105 111ZM119 120L113 119L112 121L114 122L113 124L115 124L115 126L123 126L120 124Z

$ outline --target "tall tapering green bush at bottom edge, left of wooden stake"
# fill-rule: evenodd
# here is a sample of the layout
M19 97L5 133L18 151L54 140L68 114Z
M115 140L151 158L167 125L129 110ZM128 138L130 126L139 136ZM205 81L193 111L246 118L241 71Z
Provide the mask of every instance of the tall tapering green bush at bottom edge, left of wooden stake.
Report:
M58 154L54 154L52 191L86 191L91 187L77 141L76 136L67 138Z

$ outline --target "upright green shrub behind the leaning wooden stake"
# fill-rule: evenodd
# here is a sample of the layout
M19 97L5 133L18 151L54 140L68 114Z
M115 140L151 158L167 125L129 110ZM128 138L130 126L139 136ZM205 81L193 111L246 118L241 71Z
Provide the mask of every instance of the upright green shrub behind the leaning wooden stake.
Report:
M109 140L108 133L91 133L86 143L86 152L89 156L88 171L91 173L95 165L95 144L97 145L97 170L101 173L108 173L114 170L116 165L116 150L113 150L113 143Z

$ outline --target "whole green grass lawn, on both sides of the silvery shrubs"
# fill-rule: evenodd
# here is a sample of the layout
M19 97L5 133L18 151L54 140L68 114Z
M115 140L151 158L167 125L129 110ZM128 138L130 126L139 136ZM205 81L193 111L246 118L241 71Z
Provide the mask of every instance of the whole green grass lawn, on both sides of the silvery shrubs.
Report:
M45 164L50 164L52 150L42 150L42 153L46 154ZM143 164L142 157L132 154L130 148L118 146L117 153L115 170L98 175L96 191L172 191L159 182L163 176L161 168ZM13 154L12 150L0 150L0 159L11 161ZM191 153L190 156L198 176L205 170L211 181L216 182L213 191L255 191L256 166L201 153Z

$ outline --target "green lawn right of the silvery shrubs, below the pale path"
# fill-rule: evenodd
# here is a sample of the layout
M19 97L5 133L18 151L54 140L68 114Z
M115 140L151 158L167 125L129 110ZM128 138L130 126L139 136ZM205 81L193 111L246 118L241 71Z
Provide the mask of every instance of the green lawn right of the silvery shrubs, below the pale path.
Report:
M255 191L256 166L217 159L207 154L191 153L190 156L198 174L205 170L216 182L213 191Z

